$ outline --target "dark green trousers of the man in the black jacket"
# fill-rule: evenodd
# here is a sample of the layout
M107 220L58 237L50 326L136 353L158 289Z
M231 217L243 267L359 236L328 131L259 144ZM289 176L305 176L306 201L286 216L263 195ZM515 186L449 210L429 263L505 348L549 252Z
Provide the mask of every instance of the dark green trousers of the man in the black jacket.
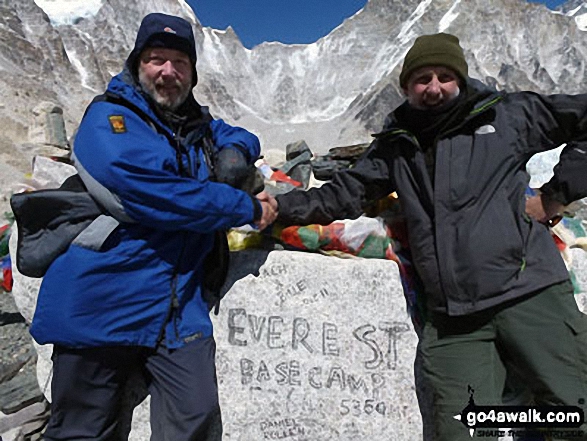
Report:
M587 416L587 315L570 282L478 314L435 316L425 325L420 349L433 390L436 441L470 441L454 416L469 403L471 390L478 406L502 405L506 376L508 383L520 383L509 384L511 390L532 399L516 404L579 406ZM587 440L587 425L573 430L584 435L547 439ZM479 435L497 439L487 433L473 439Z

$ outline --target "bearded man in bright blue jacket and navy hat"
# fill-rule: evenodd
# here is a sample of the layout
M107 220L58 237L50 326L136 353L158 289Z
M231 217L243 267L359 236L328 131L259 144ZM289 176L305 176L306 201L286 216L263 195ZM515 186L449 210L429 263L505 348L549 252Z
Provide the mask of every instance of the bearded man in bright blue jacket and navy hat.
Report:
M214 120L194 100L196 83L191 25L147 15L123 72L79 127L74 163L104 214L51 264L39 293L31 333L54 344L45 439L124 438L133 370L151 395L152 439L221 439L204 261L215 232L263 228L275 212L226 172L256 160L257 137Z

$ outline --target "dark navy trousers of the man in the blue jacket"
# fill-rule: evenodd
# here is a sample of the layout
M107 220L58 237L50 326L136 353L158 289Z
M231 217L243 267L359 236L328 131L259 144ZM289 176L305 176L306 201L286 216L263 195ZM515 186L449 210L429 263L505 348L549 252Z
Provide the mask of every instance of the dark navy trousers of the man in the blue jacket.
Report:
M151 395L152 441L220 441L215 352L213 338L175 350L56 346L45 439L127 439L125 389L138 373Z

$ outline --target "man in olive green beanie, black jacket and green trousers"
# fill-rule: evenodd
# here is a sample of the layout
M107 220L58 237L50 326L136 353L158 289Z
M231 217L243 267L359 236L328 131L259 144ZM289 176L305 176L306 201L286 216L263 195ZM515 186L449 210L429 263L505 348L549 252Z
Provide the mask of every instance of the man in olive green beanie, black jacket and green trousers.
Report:
M491 90L469 78L448 34L416 39L400 84L406 102L356 166L279 196L279 220L356 218L397 191L425 291L421 351L438 441L471 439L454 416L471 394L498 405L504 367L536 404L584 409L587 317L548 223L587 196L587 95ZM527 161L563 143L553 179L527 200Z

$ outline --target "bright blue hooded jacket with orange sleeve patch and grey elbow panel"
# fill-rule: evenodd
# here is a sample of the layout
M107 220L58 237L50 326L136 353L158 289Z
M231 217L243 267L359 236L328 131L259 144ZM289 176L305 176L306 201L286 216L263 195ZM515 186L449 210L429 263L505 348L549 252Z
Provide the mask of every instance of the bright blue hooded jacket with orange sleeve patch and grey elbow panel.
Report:
M73 156L112 216L96 219L51 264L31 334L74 348L181 347L212 335L202 278L214 231L251 223L259 210L249 194L209 179L202 138L209 133L216 149L237 148L250 163L259 141L212 119L191 94L200 122L174 133L128 71L112 79L108 93L122 104L88 108Z

